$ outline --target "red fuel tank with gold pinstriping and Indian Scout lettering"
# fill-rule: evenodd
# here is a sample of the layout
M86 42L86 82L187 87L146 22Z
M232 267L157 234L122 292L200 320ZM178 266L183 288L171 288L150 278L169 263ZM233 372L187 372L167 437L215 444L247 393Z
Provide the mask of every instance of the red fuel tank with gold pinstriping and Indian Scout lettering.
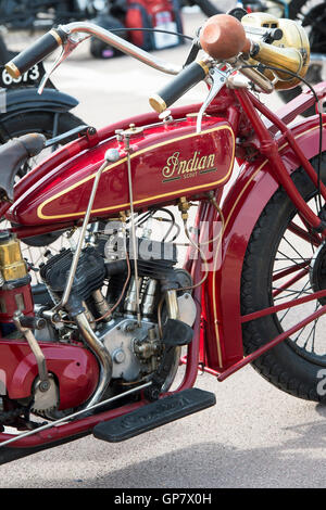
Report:
M224 186L235 157L235 136L222 117L165 122L143 128L131 126L130 165L135 211L180 196L197 197ZM120 158L104 168L91 218L112 217L130 206L125 142L113 137L58 166L37 181L9 209L7 218L21 226L41 226L82 219L97 170L109 149ZM37 170L36 170L37 171Z

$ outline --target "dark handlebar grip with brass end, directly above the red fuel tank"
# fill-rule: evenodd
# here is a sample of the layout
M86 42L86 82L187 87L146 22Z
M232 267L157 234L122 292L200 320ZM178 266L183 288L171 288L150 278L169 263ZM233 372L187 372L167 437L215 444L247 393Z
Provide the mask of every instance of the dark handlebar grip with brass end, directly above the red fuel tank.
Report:
M203 80L209 72L210 68L204 62L192 62L192 64L185 67L174 80L166 85L160 92L150 97L150 105L158 113L164 112L189 89Z

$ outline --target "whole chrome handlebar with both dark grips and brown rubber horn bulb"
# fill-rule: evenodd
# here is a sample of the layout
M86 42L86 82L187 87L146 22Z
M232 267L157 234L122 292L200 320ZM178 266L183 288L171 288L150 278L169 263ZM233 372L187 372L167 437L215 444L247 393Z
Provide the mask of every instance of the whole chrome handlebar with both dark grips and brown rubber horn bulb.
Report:
M248 31L250 34L250 29ZM256 33L259 29L251 28L251 33L252 31ZM60 46L63 46L64 52L67 54L71 51L71 49L68 50L70 44L77 46L77 43L80 42L80 40L75 40L73 35L80 35L80 33L86 34L88 37L95 36L103 42L158 71L171 75L178 75L158 94L153 94L150 98L151 106L159 113L171 106L191 87L205 79L209 75L210 66L216 64L216 61L220 61L220 63L228 61L231 66L230 60L236 60L235 58L242 53L247 56L253 56L254 60L262 63L280 63L280 67L283 67L285 72L287 66L292 73L299 73L302 68L302 58L297 49L288 50L265 42L253 42L247 37L246 27L239 20L228 14L217 14L209 18L200 31L201 48L210 58L200 62L192 62L184 69L180 65L162 61L156 55L148 53L105 28L88 22L76 22L61 25L59 28L53 28L45 34L40 39L5 65L8 73L12 77L18 78L23 73L28 71L28 68L43 60ZM241 68L239 69L241 71ZM256 75L259 74L256 73ZM259 86L261 85L260 80L255 79L255 73L251 73L250 76L252 81L255 81ZM269 92L272 90L267 87L264 91Z

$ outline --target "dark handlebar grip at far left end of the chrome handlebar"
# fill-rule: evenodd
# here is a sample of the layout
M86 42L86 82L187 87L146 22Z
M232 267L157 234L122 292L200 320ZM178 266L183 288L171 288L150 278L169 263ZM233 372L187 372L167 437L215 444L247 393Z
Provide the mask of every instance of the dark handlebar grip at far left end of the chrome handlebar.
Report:
M60 28L52 28L26 50L18 53L5 64L5 69L13 78L18 78L35 64L57 50L65 41L67 35Z

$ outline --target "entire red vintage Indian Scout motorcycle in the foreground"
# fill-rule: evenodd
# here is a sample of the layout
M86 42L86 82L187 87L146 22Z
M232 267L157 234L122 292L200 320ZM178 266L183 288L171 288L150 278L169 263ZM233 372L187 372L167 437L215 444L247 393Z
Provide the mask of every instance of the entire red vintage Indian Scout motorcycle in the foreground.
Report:
M124 441L213 406L195 387L201 371L224 381L251 362L291 395L324 398L326 118L296 117L326 86L277 113L256 97L303 79L303 28L220 14L183 67L72 23L7 69L18 77L61 46L54 69L90 35L176 76L150 97L154 112L87 130L14 187L43 138L0 148L12 224L0 232L2 463L87 434ZM202 104L168 110L202 80ZM77 243L38 268L49 298L36 305L21 240L75 231Z

